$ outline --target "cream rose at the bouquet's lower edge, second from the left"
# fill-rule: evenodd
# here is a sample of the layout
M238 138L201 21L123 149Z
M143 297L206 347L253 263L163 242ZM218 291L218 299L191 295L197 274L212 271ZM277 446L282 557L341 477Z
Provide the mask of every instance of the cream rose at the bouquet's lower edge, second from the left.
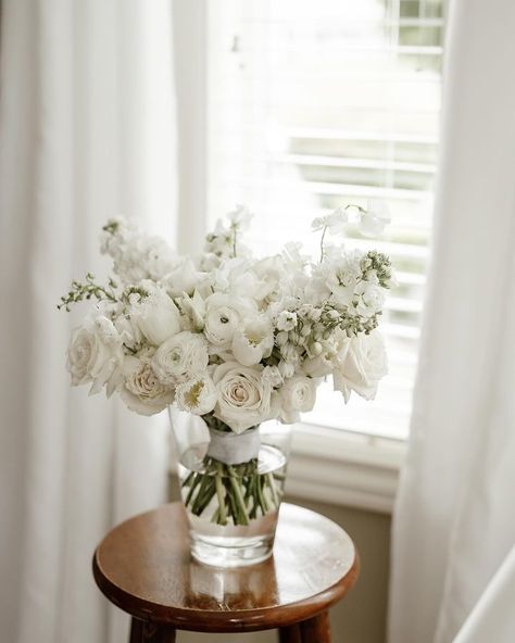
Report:
M130 411L154 415L173 403L174 389L160 382L148 361L126 357L124 377L120 396Z

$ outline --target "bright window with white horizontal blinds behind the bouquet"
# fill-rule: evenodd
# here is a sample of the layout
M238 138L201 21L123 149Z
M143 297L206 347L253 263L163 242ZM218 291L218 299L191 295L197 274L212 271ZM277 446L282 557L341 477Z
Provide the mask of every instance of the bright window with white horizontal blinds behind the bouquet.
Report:
M210 0L208 212L253 210L258 252L315 251L311 220L384 199L399 286L381 328L390 373L375 403L326 386L304 419L404 438L416 369L438 146L442 0Z

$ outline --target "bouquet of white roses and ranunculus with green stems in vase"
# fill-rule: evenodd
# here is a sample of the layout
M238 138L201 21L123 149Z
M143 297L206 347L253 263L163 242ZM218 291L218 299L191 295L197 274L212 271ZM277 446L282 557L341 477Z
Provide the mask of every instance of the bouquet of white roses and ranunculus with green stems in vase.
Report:
M354 205L315 219L318 261L298 243L254 257L242 242L251 218L243 206L217 223L199 256L180 256L163 239L110 220L101 252L113 261L112 278L101 285L88 274L73 281L59 306L95 302L72 336L72 384L116 392L142 415L175 404L201 416L213 434L250 434L269 419L297 421L329 376L346 402L352 391L372 400L387 373L377 326L392 272L380 252L327 243L352 212L365 232L384 224L377 209ZM231 463L209 453L203 472L184 482L193 514L213 497L221 525L247 525L277 508L274 478L256 484L255 457Z

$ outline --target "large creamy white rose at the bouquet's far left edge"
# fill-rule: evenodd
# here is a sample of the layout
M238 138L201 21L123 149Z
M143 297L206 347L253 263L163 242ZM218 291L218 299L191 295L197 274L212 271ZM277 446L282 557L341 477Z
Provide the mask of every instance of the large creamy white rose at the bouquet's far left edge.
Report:
M90 393L98 393L108 383L124 360L122 339L108 317L99 316L87 326L74 330L66 367L72 384L92 382Z

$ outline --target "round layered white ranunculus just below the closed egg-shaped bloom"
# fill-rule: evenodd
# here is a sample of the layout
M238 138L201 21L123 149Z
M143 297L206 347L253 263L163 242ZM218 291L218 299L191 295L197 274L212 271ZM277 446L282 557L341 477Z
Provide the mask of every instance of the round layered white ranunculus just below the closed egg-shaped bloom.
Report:
M202 335L183 330L163 342L152 358L152 368L165 384L183 382L208 367L208 342Z

